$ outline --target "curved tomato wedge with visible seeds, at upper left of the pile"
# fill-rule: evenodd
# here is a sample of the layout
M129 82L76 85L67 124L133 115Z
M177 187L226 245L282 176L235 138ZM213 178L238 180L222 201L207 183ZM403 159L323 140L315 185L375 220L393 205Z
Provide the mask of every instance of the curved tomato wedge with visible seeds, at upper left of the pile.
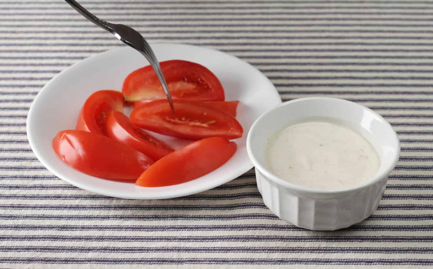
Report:
M100 90L87 98L75 129L107 135L105 123L111 111L123 111L123 95L115 90Z

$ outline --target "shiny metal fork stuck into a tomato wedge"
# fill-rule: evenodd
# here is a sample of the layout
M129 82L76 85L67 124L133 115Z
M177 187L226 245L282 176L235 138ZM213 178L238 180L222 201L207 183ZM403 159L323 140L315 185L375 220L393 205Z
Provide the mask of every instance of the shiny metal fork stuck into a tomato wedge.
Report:
M91 22L101 27L102 29L112 33L120 41L134 48L139 53L143 54L143 56L147 59L147 61L149 61L150 65L152 65L153 70L155 70L155 73L158 76L159 81L162 84L162 87L164 88L165 96L167 96L168 102L170 103L171 106L171 110L173 111L174 114L173 100L171 99L170 92L168 91L168 86L167 86L167 82L165 81L164 74L162 74L162 70L161 67L159 66L158 60L156 59L155 53L152 51L152 48L150 48L149 43L147 43L147 41L143 38L143 36L129 26L106 22L98 18L97 16L93 15L88 10L86 10L75 0L65 0L65 1L68 4L70 4L74 8L74 10L77 10L78 13L83 15L84 18L90 20Z

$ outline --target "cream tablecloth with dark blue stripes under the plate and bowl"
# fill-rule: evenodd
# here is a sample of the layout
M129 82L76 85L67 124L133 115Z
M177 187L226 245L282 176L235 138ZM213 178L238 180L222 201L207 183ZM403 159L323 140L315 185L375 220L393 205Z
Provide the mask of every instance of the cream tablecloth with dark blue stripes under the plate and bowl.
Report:
M283 100L333 96L368 106L399 134L401 159L373 215L333 232L275 217L253 170L162 201L78 189L33 155L27 111L55 74L122 44L61 0L0 0L0 268L433 265L432 1L81 3L150 42L236 55L262 70Z

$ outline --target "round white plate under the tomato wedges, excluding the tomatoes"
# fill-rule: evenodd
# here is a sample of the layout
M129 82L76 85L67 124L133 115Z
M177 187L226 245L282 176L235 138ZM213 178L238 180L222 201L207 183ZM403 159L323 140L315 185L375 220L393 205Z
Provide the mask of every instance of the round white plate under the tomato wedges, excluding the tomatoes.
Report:
M144 188L121 183L74 170L62 162L52 149L58 131L74 129L84 101L97 90L122 90L125 77L148 65L132 48L123 47L94 55L68 67L49 81L36 96L27 117L27 135L36 157L59 178L81 189L128 199L166 199L190 195L229 182L250 170L253 165L246 151L246 137L252 123L262 113L278 106L281 99L274 85L250 64L208 48L180 44L152 44L159 61L180 59L209 68L223 84L226 100L240 100L236 117L244 129L236 139L238 150L217 170L187 183L174 186ZM127 112L126 112L127 113ZM155 135L174 148L190 141Z

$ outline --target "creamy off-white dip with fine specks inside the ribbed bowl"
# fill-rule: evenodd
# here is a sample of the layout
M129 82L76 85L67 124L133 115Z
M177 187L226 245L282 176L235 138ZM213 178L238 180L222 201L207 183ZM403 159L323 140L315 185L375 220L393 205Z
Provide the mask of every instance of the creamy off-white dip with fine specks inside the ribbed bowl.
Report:
M356 131L328 119L312 119L268 139L265 163L276 176L313 189L338 190L372 179L380 159Z

